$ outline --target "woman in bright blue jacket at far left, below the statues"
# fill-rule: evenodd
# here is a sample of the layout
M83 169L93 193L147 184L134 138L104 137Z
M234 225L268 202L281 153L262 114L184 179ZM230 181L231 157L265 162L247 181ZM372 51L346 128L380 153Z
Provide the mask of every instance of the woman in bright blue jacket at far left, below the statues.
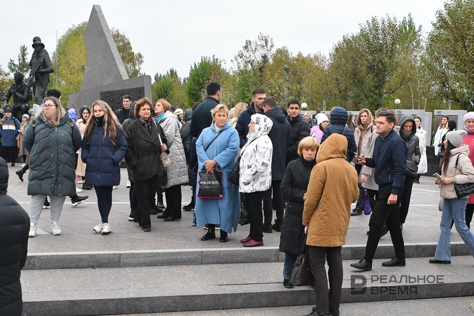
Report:
M0 134L2 135L2 158L6 162L12 162L12 167L15 166L15 159L17 159L18 146L17 135L20 130L20 121L12 115L12 109L7 107L5 115L0 120Z

